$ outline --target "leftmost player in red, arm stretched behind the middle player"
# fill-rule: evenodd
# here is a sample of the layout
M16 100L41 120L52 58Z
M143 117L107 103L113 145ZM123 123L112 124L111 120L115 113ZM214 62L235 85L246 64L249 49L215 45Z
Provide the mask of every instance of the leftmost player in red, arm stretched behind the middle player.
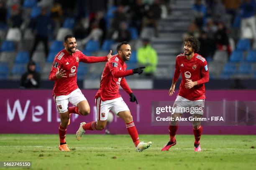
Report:
M94 63L107 62L111 57L111 50L105 57L87 57L77 50L77 41L73 35L64 37L64 49L54 58L49 80L54 82L53 96L57 111L60 113L59 125L59 150L69 151L65 140L69 115L88 115L90 106L77 86L77 67L79 62ZM68 107L68 103L74 107Z

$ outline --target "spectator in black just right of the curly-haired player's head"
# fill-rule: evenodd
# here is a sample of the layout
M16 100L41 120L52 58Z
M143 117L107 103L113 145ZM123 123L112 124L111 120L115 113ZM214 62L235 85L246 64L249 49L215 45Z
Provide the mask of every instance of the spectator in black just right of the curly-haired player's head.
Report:
M198 40L200 41L200 51L198 53L204 57L213 57L215 44L214 40L208 37L207 32L202 31Z

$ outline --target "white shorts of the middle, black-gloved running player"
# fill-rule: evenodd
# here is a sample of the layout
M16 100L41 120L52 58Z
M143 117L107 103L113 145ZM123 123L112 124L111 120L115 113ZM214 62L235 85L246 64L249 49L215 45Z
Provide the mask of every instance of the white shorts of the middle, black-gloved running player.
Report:
M125 110L130 111L126 103L123 101L122 97L106 101L102 101L100 97L98 97L97 99L95 99L95 103L97 120L107 120L109 110L111 110L115 115L118 115L119 112Z

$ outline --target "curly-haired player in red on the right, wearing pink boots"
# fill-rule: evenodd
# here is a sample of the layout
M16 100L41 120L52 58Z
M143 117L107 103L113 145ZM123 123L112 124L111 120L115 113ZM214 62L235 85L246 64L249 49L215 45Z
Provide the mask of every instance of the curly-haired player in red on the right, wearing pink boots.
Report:
M178 129L177 117L181 117L184 108L190 109L193 118L200 118L203 115L205 100L205 83L209 81L209 71L204 57L197 54L200 42L197 38L188 36L184 38L184 53L176 57L174 77L169 95L173 95L179 75L182 74L182 82L179 86L179 94L174 102L175 112L172 114L172 121L169 125L170 141L161 150L169 150L176 144L175 134ZM196 110L196 112L192 112ZM195 136L194 150L201 151L200 137L202 133L201 121L192 121ZM200 120L200 119L199 119Z

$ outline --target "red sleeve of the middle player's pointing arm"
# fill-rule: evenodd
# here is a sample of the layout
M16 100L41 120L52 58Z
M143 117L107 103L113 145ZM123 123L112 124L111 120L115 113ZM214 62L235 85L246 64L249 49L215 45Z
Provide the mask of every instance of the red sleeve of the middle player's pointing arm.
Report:
M128 75L133 75L133 70L126 70L126 71L119 70L118 69L118 62L109 61L108 62L108 67L109 67L109 70L110 70L111 74L115 78L125 77L125 76L128 76Z

